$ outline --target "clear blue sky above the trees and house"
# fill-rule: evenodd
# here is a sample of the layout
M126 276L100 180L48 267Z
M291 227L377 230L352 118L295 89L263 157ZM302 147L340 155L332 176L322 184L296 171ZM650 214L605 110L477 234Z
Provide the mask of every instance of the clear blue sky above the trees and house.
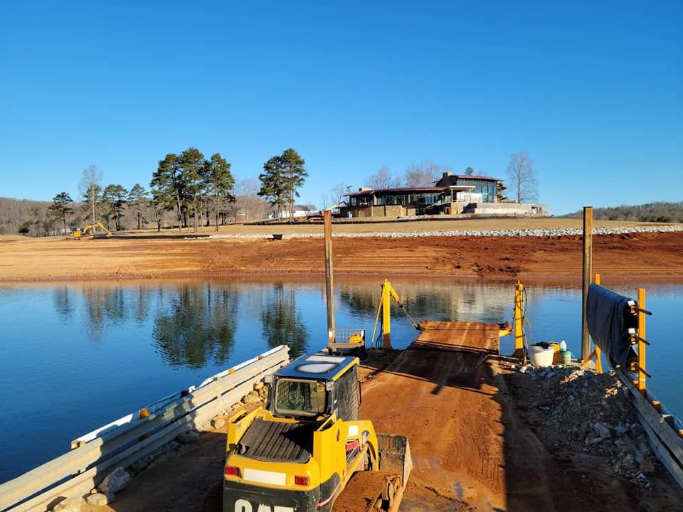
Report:
M681 1L107 4L1 4L0 196L147 186L196 146L238 178L293 147L317 205L520 150L555 213L683 200Z

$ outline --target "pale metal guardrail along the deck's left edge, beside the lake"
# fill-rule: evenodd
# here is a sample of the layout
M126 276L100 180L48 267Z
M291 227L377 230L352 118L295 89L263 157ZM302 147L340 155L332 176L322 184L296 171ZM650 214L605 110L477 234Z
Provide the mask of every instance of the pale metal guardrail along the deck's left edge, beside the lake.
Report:
M45 512L63 498L87 494L112 466L129 466L231 407L285 366L288 353L287 346L273 348L75 439L70 452L0 485L0 511Z

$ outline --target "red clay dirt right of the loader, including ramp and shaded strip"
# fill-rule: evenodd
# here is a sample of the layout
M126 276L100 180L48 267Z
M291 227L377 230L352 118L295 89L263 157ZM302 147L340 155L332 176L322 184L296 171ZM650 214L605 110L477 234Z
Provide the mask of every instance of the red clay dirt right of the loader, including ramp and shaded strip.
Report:
M410 439L415 466L401 511L664 511L680 503L671 479L657 493L636 492L607 459L549 451L517 414L497 325L420 326L418 339L364 385L361 405L377 432Z

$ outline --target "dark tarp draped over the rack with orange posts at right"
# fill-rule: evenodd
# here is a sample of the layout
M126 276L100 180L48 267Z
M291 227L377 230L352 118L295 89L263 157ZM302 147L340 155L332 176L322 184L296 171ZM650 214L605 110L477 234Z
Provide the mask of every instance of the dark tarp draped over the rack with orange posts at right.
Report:
M591 284L586 299L586 324L597 346L613 368L629 368L638 356L630 343L628 329L638 327L638 317L630 312L632 299ZM634 301L635 302L635 301Z

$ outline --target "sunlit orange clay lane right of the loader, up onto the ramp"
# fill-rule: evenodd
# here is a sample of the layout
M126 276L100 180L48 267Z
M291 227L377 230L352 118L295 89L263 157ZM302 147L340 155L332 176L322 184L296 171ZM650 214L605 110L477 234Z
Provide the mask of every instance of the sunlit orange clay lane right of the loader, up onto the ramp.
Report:
M420 336L363 388L361 417L405 434L413 472L401 510L505 509L497 324L422 321Z

